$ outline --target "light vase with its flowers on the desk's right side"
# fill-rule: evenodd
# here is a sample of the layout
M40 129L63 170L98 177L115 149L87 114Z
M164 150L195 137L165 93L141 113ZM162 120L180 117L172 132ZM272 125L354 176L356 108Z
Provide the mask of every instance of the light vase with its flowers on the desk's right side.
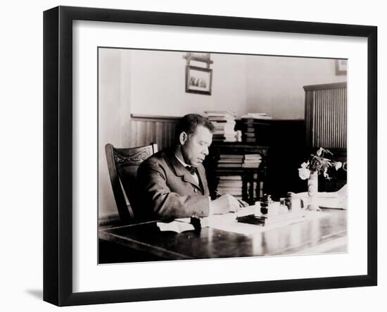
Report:
M328 169L333 167L336 170L340 169L343 165L340 161L332 161L327 158L333 154L328 149L320 147L316 154L311 154L306 163L302 163L298 168L298 175L301 179L307 179L307 194L309 196L309 203L307 204L307 210L319 211L320 208L317 204L317 194L319 188L319 175L324 175L324 178L330 179L328 175Z

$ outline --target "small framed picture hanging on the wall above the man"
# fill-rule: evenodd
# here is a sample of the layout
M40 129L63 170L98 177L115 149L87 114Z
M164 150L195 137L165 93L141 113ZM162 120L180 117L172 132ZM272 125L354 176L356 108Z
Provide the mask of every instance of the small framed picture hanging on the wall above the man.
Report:
M186 65L186 92L211 95L212 69Z

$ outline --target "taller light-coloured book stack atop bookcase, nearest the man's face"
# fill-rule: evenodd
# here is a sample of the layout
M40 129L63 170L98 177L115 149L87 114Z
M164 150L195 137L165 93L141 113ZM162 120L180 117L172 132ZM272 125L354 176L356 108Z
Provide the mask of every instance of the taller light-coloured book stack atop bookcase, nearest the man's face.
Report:
M205 114L215 127L212 141L236 142L234 113L229 111L205 111Z

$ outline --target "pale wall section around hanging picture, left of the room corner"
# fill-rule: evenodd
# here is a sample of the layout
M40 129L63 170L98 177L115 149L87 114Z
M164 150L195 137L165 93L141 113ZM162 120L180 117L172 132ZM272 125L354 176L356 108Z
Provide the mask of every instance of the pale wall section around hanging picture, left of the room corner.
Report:
M132 50L132 111L184 116L208 110L246 111L246 59L211 54L212 94L185 92L185 52ZM195 65L205 67L205 63Z

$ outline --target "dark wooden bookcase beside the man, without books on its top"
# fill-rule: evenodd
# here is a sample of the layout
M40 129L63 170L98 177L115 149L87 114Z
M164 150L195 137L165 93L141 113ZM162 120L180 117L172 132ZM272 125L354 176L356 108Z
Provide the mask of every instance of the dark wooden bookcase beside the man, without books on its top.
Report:
M216 190L222 194L228 188L231 192L227 193L249 204L262 197L265 192L268 149L268 146L246 142L212 142L210 154L205 160L212 199L217 196ZM227 159L230 161L227 162Z

